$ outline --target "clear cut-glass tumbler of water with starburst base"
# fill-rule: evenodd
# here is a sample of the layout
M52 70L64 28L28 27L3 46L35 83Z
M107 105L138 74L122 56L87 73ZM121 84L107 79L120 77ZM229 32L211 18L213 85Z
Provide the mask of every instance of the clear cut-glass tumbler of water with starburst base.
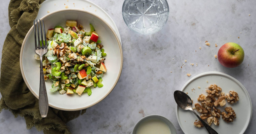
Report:
M153 34L168 20L169 6L166 0L125 0L122 14L130 29L143 35Z

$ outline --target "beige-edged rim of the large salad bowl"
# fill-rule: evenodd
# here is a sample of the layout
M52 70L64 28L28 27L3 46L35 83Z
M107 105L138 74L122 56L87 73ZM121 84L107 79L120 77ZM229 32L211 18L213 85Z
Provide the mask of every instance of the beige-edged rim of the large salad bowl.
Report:
M42 18L40 18L40 20L48 17L48 16L51 16L52 14L55 14L55 13L59 13L59 12L64 12L64 11L78 11L78 12L84 12L84 13L87 13L87 14L90 14L94 17L97 17L98 19L100 19L104 24L107 25L107 27L111 30L111 32L113 33L113 35L115 36L116 40L117 40L117 43L118 43L118 46L119 46L119 50L120 50L120 56L121 56L121 65L119 67L119 72L118 72L118 78L116 79L114 85L110 88L110 90L103 96L101 97L99 100L97 100L96 102L92 103L91 105L88 105L86 107L82 107L82 108L76 108L76 109L66 109L66 108L59 108L59 107L56 107L56 106L53 106L51 104L49 104L50 107L52 108L55 108L55 109L58 109L58 110L65 110L65 111L77 111L77 110L83 110L83 109L87 109L89 107L92 107L94 106L95 104L101 102L101 100L103 100L114 88L115 86L117 85L117 82L118 80L120 79L120 76L121 76L121 72L122 72L122 69L123 69L123 49L122 49L122 46L121 46L121 42L115 32L115 30L104 20L102 19L101 17L99 17L98 15L92 13L92 12L89 12L89 11L86 11L86 10L82 10L82 9L62 9L62 10L58 10L58 11L55 11L55 12L52 12L52 13L49 13L49 14L46 14L44 15ZM28 81L25 77L25 74L24 74L24 70L23 70L23 61L22 61L22 56L23 56L23 50L24 50L24 46L25 46L25 43L29 37L29 34L32 32L32 30L34 29L34 25L32 25L32 27L29 29L29 31L27 32L24 40L23 40L23 43L22 43L22 46L21 46L21 51L20 51L20 68L21 68L21 74L22 74L22 77L23 77L23 80L24 82L26 83L27 87L29 88L29 90L32 92L32 94L38 99L38 95L32 90L32 88L30 87L30 85L28 84ZM39 85L38 85L39 86Z

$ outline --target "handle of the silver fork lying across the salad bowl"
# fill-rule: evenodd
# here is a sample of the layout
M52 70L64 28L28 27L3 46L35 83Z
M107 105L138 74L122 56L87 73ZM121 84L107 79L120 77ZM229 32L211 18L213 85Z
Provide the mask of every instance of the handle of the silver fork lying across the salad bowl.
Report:
M44 82L44 75L43 75L43 57L40 56L40 87L39 87L39 111L42 118L45 118L48 113L48 97Z

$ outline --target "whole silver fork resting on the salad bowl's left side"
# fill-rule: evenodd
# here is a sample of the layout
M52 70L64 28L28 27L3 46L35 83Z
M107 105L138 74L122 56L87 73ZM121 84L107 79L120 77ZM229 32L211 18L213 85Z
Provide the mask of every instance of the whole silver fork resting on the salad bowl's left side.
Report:
M40 31L41 31L42 47L40 47L40 36L39 36L38 26L40 26ZM38 45L36 41L36 27L37 27ZM44 40L43 40L41 20L39 19L39 25L38 25L38 21L36 20L36 24L35 24L35 20L34 20L35 51L40 56L39 111L40 111L41 117L45 118L48 113L49 104L48 104L48 97L47 97L47 92L46 92L46 87L44 82L43 63L42 63L43 55L47 52L47 41L46 41L46 35L45 35L44 22L43 22L43 32L44 32ZM43 44L43 41L45 41L45 45Z

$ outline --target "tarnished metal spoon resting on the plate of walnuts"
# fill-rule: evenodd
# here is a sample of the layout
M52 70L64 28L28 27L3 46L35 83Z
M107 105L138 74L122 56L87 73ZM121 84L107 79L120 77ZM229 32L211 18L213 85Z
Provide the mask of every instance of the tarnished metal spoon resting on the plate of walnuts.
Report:
M209 132L209 134L218 134L212 127L210 127L208 124L206 124L192 109L192 100L186 94L185 92L176 90L174 91L174 99L175 102L178 104L178 106L181 107L183 110L190 110L192 111L196 117L202 122L203 126L206 128L206 130Z

